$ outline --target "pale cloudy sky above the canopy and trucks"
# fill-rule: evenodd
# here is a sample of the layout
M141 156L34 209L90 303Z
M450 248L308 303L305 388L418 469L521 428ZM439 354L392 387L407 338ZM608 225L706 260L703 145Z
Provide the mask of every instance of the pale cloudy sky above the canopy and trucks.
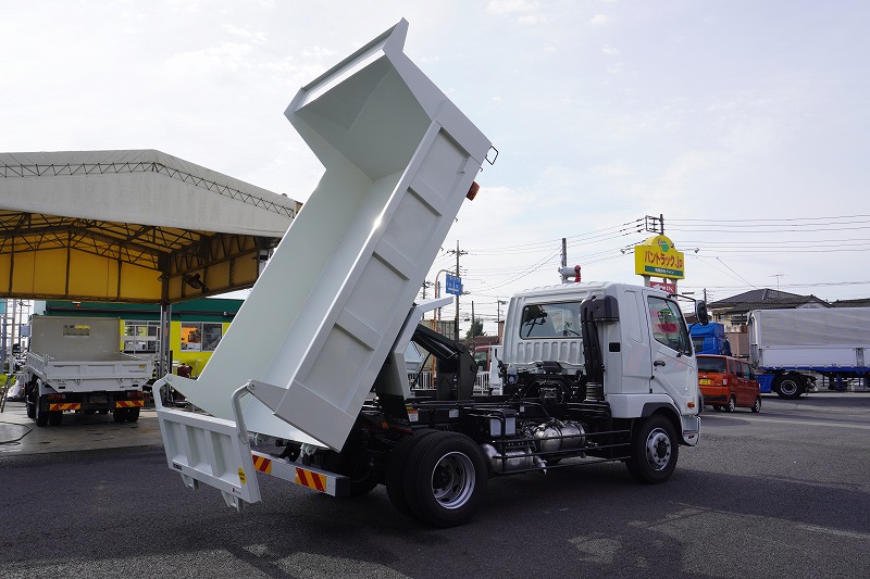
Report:
M584 280L639 282L620 250L660 214L682 290L870 297L861 1L7 1L0 150L159 149L304 201L284 109L401 17L500 152L445 241L462 317L558 282L563 237Z

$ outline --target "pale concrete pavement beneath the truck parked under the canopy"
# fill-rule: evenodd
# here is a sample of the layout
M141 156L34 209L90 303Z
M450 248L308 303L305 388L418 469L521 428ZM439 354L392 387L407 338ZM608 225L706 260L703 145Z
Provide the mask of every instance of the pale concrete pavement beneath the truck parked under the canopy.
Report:
M111 414L66 412L60 426L36 426L24 402L7 402L0 413L0 456L90 451L162 444L153 408L142 408L135 423L116 424Z

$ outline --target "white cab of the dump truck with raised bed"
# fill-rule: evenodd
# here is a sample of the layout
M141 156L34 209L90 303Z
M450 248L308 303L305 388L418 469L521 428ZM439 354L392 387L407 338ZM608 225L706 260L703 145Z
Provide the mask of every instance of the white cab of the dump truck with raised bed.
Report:
M584 322L584 301L596 300L618 311ZM609 282L538 288L511 299L505 328L509 374L558 362L564 374L583 375L587 395L606 401L614 417L642 416L660 405L682 440L695 443L697 366L680 306L666 293Z

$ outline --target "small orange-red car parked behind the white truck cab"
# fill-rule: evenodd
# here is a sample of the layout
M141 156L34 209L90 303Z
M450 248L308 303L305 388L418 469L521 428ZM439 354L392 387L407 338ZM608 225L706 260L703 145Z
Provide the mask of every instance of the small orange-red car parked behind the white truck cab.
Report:
M714 410L734 412L736 407L745 407L761 412L755 370L743 360L698 354L698 387L704 403Z

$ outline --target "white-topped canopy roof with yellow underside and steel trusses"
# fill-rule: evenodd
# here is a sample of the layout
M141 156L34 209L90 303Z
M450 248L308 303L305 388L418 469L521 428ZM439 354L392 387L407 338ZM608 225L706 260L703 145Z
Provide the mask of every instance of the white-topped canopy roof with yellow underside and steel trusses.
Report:
M165 305L249 288L300 206L156 150L0 153L0 297Z

